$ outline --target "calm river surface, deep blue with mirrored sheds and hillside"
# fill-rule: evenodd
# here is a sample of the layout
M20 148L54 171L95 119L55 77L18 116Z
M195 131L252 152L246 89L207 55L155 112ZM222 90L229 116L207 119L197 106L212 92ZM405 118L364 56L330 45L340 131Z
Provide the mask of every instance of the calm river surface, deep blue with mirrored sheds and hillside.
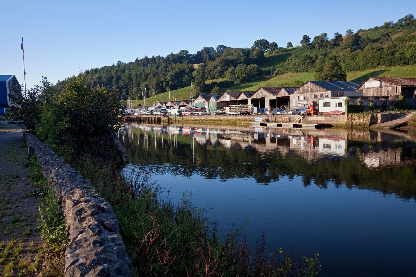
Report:
M416 276L416 143L396 132L161 127L119 134L130 162L223 230L293 257L319 276Z

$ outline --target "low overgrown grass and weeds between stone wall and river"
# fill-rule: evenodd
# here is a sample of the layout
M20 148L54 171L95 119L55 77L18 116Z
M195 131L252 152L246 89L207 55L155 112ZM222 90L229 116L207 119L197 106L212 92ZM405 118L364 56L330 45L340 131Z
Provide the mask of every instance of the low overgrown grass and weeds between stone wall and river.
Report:
M316 255L296 263L288 252L266 253L264 234L254 247L235 226L220 237L218 224L204 216L207 209L193 205L189 191L173 205L145 172L119 176L114 161L65 151L60 152L65 161L91 180L112 205L136 276L306 277L320 270Z

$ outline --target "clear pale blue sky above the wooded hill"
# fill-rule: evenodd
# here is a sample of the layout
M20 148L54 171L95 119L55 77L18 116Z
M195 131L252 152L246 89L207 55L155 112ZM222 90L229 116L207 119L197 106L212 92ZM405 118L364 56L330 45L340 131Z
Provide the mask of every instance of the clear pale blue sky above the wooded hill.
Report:
M416 15L415 0L374 1L2 1L0 74L23 78L27 88L42 76L52 83L79 69L134 61L219 44L251 47L258 39L286 46L302 35L332 38L351 28L380 26Z

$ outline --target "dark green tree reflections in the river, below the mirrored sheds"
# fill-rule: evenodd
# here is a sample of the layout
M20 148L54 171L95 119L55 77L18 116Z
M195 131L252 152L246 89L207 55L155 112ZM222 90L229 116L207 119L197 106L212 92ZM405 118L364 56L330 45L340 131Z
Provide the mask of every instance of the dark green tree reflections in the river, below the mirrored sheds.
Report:
M121 139L124 141L130 161L155 165L181 164L180 167L172 166L170 170L182 176L191 176L196 171L205 178L222 180L250 176L257 183L264 184L278 181L281 176L287 176L290 179L294 176L302 176L305 186L309 186L313 181L314 185L327 188L328 182L331 181L336 186L345 185L346 188L378 190L383 193L395 193L401 198L416 199L414 164L392 165L381 170L374 170L367 168L356 158L356 152L358 155L361 149L378 151L389 148L399 149L403 153L402 157L405 157L404 153L409 152L406 148L415 148L414 143L348 141L351 155L331 159L322 158L310 163L294 152L289 152L286 156L279 151L260 154L251 147L243 149L242 147L225 148L212 144L200 145L193 141L192 136L147 135L136 129L132 132L134 133L132 137L138 138L139 144L137 140L129 141L128 134L125 134L124 140ZM144 143L146 137L149 141ZM162 143L164 150L162 150ZM171 144L172 148L170 148ZM173 147L173 145L176 146ZM408 158L413 161L415 157L411 155Z

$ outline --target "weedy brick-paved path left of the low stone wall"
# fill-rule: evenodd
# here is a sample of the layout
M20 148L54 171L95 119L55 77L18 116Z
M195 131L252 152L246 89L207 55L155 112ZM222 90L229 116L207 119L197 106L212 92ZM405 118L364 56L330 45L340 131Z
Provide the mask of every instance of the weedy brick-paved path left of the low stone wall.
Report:
M0 124L0 276L35 276L31 264L42 243L36 230L40 197L28 196L37 186L22 138L19 126Z

